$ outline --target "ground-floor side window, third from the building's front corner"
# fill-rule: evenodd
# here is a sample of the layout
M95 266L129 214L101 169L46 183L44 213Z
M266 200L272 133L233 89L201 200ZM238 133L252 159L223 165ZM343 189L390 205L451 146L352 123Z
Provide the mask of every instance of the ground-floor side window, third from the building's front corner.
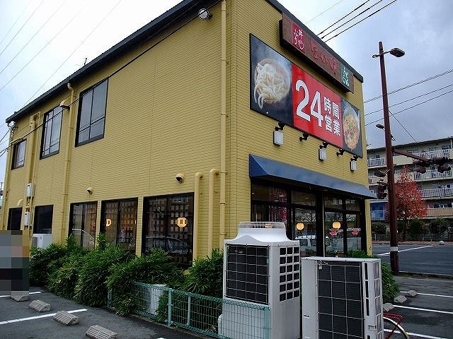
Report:
M69 212L69 234L74 235L76 242L86 249L93 249L96 243L97 201L88 203L71 203Z

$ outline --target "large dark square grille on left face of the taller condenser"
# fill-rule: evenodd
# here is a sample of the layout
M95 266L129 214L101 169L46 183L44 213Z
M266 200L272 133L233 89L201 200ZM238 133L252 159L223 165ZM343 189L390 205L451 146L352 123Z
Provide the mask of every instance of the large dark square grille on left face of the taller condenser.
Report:
M268 246L226 245L226 297L268 304Z

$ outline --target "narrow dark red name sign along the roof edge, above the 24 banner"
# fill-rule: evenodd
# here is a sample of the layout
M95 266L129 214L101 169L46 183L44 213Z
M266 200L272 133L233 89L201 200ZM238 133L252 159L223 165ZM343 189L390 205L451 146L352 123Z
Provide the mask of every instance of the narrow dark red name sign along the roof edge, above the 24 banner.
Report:
M300 28L283 14L282 40L333 77L341 87L354 93L352 71L323 47L308 30Z

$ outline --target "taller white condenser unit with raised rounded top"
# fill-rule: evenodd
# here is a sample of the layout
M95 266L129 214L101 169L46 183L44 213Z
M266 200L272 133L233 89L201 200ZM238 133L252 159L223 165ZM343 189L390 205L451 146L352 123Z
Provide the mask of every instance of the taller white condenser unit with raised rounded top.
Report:
M223 297L229 302L222 305L219 334L299 338L299 275L299 241L287 238L284 223L241 222L237 237L224 242Z

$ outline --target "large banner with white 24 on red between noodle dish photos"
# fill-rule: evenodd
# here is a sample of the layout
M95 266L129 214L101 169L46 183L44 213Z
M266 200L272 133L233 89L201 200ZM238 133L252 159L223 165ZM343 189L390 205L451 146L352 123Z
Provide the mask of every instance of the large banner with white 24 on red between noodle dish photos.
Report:
M251 109L362 157L359 109L253 35L250 90Z

